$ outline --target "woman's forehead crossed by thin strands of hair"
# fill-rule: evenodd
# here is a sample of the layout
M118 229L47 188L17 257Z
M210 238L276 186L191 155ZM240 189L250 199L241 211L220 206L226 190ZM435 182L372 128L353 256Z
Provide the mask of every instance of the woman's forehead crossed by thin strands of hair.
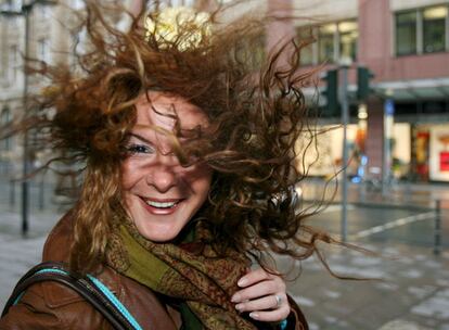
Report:
M206 114L187 100L158 91L142 94L137 104L137 126L156 125L172 130L178 120L181 129L207 126ZM150 100L150 101L149 101Z

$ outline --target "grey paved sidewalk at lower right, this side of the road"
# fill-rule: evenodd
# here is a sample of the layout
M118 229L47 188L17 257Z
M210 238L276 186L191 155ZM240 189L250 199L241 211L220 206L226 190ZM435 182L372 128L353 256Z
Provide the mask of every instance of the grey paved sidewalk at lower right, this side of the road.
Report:
M333 248L328 251L331 269L382 280L339 280L311 258L303 263L300 278L288 284L311 330L449 329L449 252L435 257L427 249L408 245L363 248L380 255Z

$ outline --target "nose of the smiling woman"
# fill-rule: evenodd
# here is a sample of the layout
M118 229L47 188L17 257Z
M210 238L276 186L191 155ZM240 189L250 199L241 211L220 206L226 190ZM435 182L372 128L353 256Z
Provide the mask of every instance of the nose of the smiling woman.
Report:
M156 162L152 165L153 170L146 176L146 183L156 188L161 193L169 191L178 182L177 167L179 166L176 156L157 155Z

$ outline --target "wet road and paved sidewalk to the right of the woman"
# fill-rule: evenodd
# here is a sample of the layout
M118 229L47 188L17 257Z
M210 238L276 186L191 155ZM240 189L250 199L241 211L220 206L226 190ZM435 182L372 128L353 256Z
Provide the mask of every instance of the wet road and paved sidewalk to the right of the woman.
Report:
M324 249L339 280L317 258L303 263L291 284L311 329L449 329L449 227L444 213L442 253L433 254L434 219L428 210L358 207L348 211L349 242L370 255ZM331 205L309 224L339 233L341 207Z

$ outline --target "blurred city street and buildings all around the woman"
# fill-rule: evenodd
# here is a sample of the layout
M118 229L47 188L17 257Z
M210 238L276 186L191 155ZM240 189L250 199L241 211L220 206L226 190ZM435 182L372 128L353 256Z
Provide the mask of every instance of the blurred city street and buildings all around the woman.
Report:
M131 12L145 4L115 2ZM319 68L303 90L319 115L310 118L317 143L298 160L308 172L296 186L298 207L324 202L308 225L375 252L323 246L336 275L381 280L337 279L313 257L278 258L280 268L295 269L290 292L310 328L448 330L449 1L158 1L203 11L220 3L232 5L228 23L256 12L287 17L251 51L261 62L293 38L304 45L300 69ZM86 31L73 31L82 10L80 0L0 0L0 307L40 259L76 183L50 172L23 179L53 155L34 149L33 132L10 135L44 82L24 73L23 59L76 65ZM129 23L119 13L115 20Z

